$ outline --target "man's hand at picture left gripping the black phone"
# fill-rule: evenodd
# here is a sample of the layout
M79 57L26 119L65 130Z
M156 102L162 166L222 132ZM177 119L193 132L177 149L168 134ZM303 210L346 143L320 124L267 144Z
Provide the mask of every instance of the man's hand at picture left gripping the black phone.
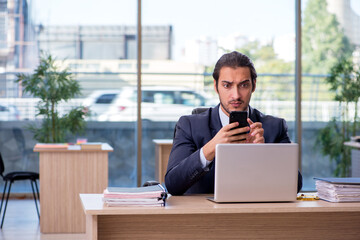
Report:
M260 123L261 124L261 123ZM220 131L203 147L204 156L208 161L215 157L215 146L219 143L246 143L250 137L246 132L251 131L251 127L235 128L238 122L230 123L221 128Z

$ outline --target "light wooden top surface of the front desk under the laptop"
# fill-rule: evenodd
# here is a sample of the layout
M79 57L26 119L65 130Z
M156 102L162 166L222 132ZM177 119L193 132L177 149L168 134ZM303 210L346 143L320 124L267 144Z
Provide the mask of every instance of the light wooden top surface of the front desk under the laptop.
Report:
M102 194L80 194L84 211L90 215L360 212L359 202L330 203L317 200L219 204L207 200L208 196L170 196L165 207L106 207L101 200Z

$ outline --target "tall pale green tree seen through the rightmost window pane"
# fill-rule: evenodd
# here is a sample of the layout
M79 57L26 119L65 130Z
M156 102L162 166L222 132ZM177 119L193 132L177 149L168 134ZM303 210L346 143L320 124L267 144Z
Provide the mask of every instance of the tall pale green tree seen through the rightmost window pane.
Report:
M302 23L302 72L327 75L339 58L349 58L354 46L345 36L334 14L327 11L326 0L309 0L303 12ZM334 92L326 77L302 78L302 99L331 101ZM316 95L314 95L316 92Z

